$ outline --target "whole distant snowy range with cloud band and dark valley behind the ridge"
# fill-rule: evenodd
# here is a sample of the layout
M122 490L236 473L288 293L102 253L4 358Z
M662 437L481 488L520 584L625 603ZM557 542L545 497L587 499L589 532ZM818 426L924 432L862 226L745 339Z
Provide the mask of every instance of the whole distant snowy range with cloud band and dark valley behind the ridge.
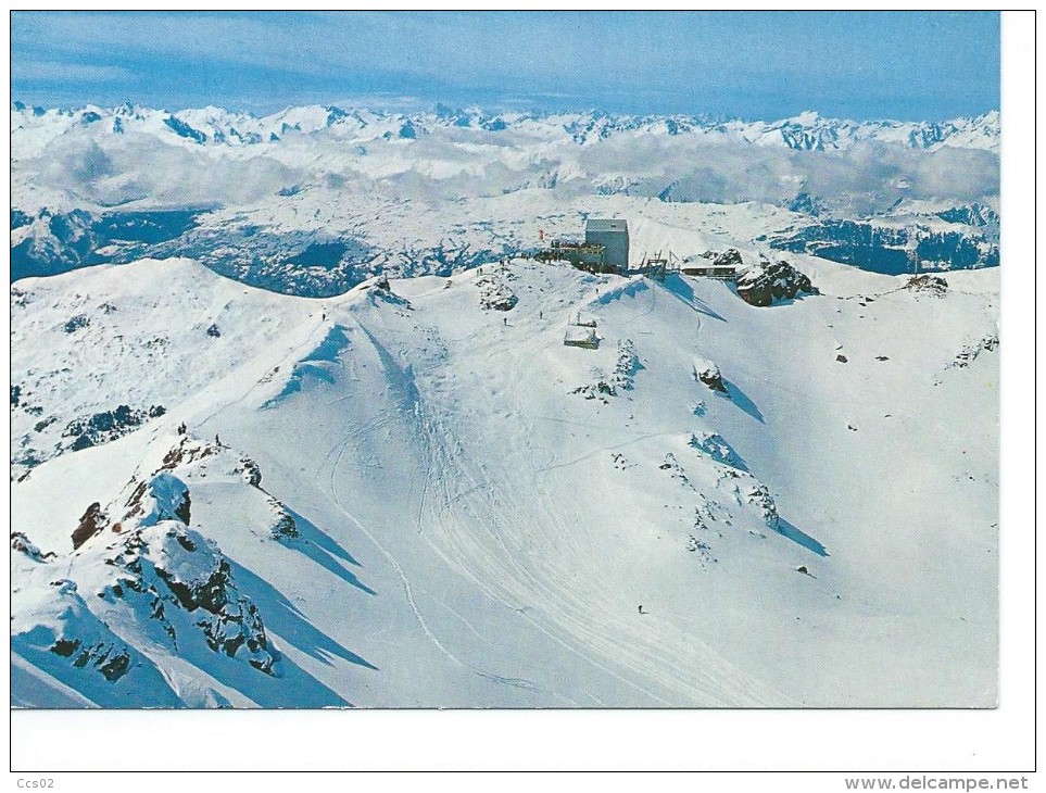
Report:
M689 230L695 242L679 256L720 237L889 274L907 272L915 248L924 268L990 266L998 141L995 112L767 123L16 102L11 275L186 256L266 289L330 295L378 273L450 275L526 254L601 214Z

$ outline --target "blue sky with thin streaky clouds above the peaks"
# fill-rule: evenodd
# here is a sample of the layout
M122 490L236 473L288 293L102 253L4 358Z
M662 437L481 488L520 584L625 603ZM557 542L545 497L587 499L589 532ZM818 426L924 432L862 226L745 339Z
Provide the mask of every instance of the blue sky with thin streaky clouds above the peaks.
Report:
M12 98L943 121L999 106L972 12L21 12Z

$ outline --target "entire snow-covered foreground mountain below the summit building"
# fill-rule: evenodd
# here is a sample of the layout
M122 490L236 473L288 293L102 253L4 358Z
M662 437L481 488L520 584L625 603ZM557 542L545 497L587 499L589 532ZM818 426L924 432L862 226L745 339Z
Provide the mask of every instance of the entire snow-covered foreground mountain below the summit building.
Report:
M765 309L525 260L324 300L185 260L20 281L35 420L164 412L72 450L12 407L46 460L15 703L991 706L998 272L792 261L821 294Z

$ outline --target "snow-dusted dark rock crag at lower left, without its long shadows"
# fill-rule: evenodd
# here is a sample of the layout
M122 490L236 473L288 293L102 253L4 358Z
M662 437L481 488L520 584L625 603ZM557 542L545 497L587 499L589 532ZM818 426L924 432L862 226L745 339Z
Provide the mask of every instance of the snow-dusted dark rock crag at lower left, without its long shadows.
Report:
M209 473L227 474L229 486L257 493L259 513L270 518L257 527L260 536L298 539L290 512L261 490L253 461L182 435L157 470L133 479L115 501L87 507L71 554L45 553L24 533L12 533L13 596L27 620L25 631L12 625L20 652L37 663L42 657L59 679L76 682L74 689L103 705L124 702L111 687L128 675L137 695L156 688L148 682L154 668L146 646L190 659L219 654L255 670L230 674L278 677L280 654L254 600L241 591L234 563L190 528L187 481ZM26 599L35 604L21 603ZM157 704L186 704L173 693L153 695Z

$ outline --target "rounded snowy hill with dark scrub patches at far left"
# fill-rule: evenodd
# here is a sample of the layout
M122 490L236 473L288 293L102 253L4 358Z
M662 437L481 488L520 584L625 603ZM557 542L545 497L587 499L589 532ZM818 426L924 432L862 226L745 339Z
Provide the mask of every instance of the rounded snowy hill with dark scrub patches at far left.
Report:
M12 288L20 316L12 336L13 477L55 453L125 435L206 383L243 376L252 355L294 344L305 330L307 303L216 278L194 262L140 262L136 272L128 280L118 268L99 267ZM180 297L171 303L143 295L140 279ZM294 307L273 314L274 305ZM41 348L65 364L37 366ZM135 376L114 372L113 361L134 362Z

